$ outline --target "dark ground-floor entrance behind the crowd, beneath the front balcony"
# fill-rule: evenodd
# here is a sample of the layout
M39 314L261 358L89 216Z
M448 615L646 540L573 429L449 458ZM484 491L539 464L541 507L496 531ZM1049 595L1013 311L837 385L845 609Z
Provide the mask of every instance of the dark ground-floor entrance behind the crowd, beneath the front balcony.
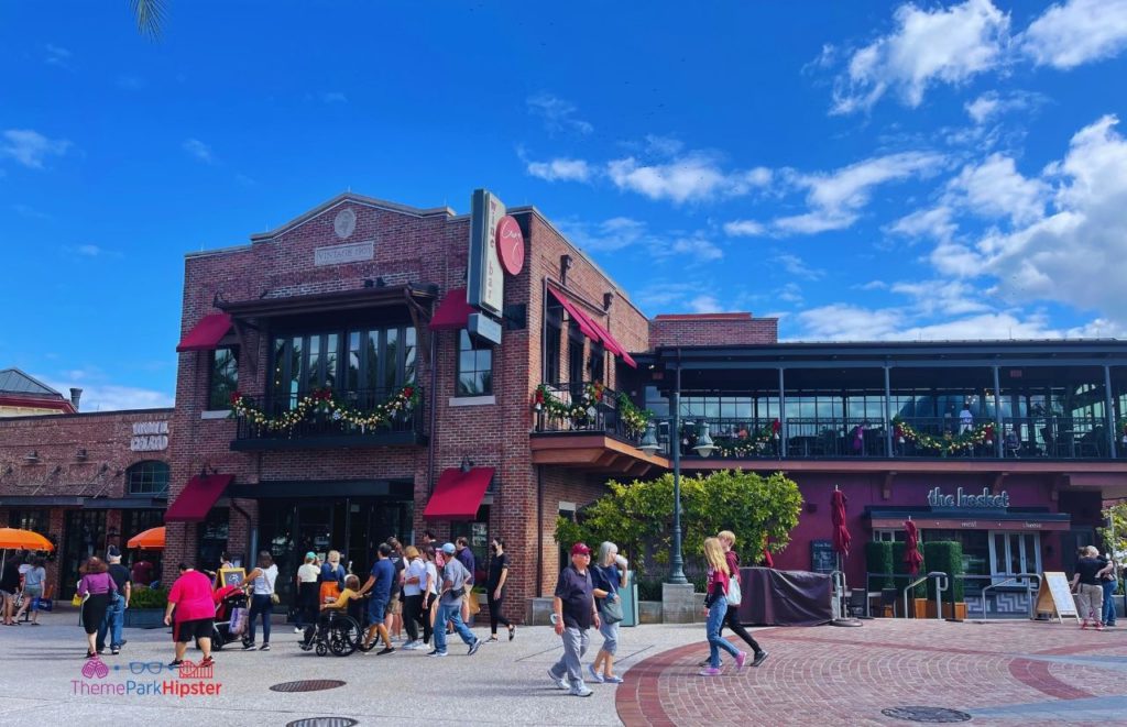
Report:
M372 569L375 547L397 536L411 542L414 503L380 497L332 500L261 500L258 504L258 549L269 550L278 566L275 590L282 604L294 602L294 576L313 551L322 560L329 550L340 551L340 563L361 583ZM257 563L248 557L247 569Z

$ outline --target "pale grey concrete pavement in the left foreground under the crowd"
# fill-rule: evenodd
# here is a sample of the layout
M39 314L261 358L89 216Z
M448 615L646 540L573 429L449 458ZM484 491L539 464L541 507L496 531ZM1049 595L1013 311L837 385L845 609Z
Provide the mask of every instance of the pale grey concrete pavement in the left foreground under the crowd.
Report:
M109 667L104 677L85 677L85 634L74 611L43 613L43 626L0 627L0 673L3 697L0 713L7 724L112 725L285 725L309 717L350 717L362 725L424 722L426 725L620 725L613 685L589 684L593 697L576 698L548 680L547 670L562 653L549 627L522 627L516 639L485 644L465 656L455 637L450 656L431 658L426 652L402 652L340 658L318 657L298 648L293 627L274 625L272 650L242 652L232 644L215 654L211 680L179 679L177 672L134 674L145 663L172 658L168 629L126 629L128 644L118 656L101 657ZM488 637L488 628L477 628ZM259 641L261 635L259 634ZM640 659L690 643L700 643L701 625L640 626L621 629L620 674ZM602 643L592 630L587 662ZM231 649L231 650L229 650ZM199 653L189 649L188 658ZM116 668L115 668L116 667ZM279 693L272 684L295 680L340 680L344 686L318 692ZM152 683L212 683L213 695L140 693ZM130 690L124 694L114 690ZM83 693L85 692L85 693ZM101 693L96 693L101 692ZM215 710L221 710L216 713Z

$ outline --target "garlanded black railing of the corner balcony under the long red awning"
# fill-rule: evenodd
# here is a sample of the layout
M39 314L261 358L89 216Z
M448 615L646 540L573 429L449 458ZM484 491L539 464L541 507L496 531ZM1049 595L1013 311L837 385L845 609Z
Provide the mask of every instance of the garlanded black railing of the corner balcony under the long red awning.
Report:
M544 384L536 404L538 432L598 432L637 443L619 411L619 393L594 382Z

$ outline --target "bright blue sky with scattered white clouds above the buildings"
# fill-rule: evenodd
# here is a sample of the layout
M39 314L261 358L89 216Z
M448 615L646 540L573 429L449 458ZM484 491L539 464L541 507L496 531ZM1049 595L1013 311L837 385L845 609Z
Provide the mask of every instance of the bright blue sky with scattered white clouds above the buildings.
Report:
M171 403L183 255L534 204L647 314L1124 336L1127 0L0 0L0 368ZM554 6L560 7L560 6Z

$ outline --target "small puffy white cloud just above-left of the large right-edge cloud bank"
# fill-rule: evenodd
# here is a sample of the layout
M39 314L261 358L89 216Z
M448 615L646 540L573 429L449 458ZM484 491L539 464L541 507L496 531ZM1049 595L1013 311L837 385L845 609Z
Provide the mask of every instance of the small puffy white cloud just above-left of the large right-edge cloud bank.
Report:
M955 199L985 217L1009 217L1014 224L1028 224L1045 214L1049 186L1039 179L1022 177L1014 161L991 154L980 164L967 164L950 181Z

